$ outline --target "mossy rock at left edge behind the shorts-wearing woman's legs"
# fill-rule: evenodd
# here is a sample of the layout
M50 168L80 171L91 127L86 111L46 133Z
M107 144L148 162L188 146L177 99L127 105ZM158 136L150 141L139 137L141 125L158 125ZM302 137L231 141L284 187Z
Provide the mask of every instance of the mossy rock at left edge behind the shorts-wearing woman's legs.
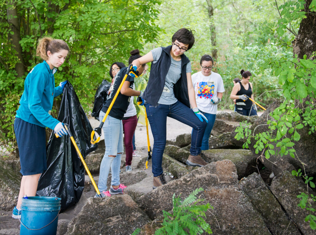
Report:
M10 164L0 160L0 210L12 210L16 205L21 184L20 175L17 175Z

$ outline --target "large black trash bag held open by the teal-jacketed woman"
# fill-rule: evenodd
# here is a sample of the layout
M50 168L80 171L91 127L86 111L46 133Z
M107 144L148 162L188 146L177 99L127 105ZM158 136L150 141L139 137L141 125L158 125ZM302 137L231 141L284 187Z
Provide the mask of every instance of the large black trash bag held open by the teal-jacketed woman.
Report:
M90 143L92 127L82 109L73 86L68 81L57 118L69 125L69 130L85 159L96 148ZM52 132L47 144L47 170L40 176L37 196L61 198L61 212L76 204L84 188L85 169L70 136L56 138Z

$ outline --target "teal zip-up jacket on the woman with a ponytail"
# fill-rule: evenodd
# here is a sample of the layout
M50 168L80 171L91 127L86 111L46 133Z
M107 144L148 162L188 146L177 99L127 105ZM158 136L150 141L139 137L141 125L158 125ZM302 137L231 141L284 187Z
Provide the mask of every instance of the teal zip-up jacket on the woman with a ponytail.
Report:
M55 87L56 70L56 68L50 69L44 61L29 72L24 81L24 92L16 117L41 127L55 128L59 121L48 112L53 107L54 97L63 93L61 87Z

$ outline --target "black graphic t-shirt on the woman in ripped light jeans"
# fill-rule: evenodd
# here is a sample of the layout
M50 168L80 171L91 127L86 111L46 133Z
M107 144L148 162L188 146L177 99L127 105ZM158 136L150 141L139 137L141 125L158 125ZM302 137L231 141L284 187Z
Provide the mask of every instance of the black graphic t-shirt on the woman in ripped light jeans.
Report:
M111 83L111 87L109 89L109 93L106 97L106 101L103 104L103 107L101 109L102 112L106 113L106 111L107 111L108 107L110 106L117 90L119 89L121 82L123 81L123 78L126 74L126 70L127 70L127 67L120 69L119 72L117 73L117 75L115 75L115 77L113 78L112 83ZM130 88L133 89L134 78L130 75L127 75L127 78L125 81L129 81L131 83ZM131 99L131 96L123 95L120 92L114 101L112 109L109 112L109 116L122 120L124 117L124 114L127 110L127 107L130 104L130 99Z

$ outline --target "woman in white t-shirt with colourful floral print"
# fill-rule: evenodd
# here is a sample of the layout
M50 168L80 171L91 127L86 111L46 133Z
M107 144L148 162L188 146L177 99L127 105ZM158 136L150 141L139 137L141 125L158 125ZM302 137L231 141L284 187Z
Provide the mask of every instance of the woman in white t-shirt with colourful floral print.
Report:
M209 121L202 139L201 150L209 149L209 138L215 123L217 104L222 101L224 84L221 75L212 72L213 58L210 55L201 57L201 71L192 75L197 108Z

